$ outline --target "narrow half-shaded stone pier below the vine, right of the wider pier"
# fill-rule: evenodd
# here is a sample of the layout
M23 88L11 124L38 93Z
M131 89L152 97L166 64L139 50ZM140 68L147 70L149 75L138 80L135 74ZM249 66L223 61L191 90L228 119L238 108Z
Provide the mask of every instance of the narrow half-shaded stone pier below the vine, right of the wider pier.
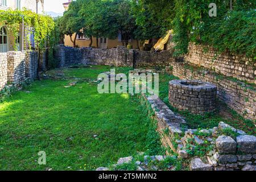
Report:
M38 52L26 51L26 77L34 80L38 72Z

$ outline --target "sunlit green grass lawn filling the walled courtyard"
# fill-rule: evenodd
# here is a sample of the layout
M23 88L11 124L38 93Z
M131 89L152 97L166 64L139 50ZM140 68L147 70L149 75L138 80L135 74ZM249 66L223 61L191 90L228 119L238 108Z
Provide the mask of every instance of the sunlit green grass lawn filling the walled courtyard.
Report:
M98 94L92 81L105 71L110 68L50 71L65 78L34 81L0 104L0 169L92 170L150 150L154 128L138 100ZM39 151L46 152L45 166L38 164Z

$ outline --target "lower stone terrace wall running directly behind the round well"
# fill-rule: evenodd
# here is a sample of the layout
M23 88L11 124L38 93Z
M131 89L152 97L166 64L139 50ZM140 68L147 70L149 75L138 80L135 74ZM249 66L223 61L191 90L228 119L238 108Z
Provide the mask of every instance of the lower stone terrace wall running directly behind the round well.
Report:
M201 80L217 86L217 97L224 101L237 113L248 119L256 119L255 87L243 82L230 80L228 77L217 75L204 69L192 69L191 65L172 63L170 73L180 79Z

